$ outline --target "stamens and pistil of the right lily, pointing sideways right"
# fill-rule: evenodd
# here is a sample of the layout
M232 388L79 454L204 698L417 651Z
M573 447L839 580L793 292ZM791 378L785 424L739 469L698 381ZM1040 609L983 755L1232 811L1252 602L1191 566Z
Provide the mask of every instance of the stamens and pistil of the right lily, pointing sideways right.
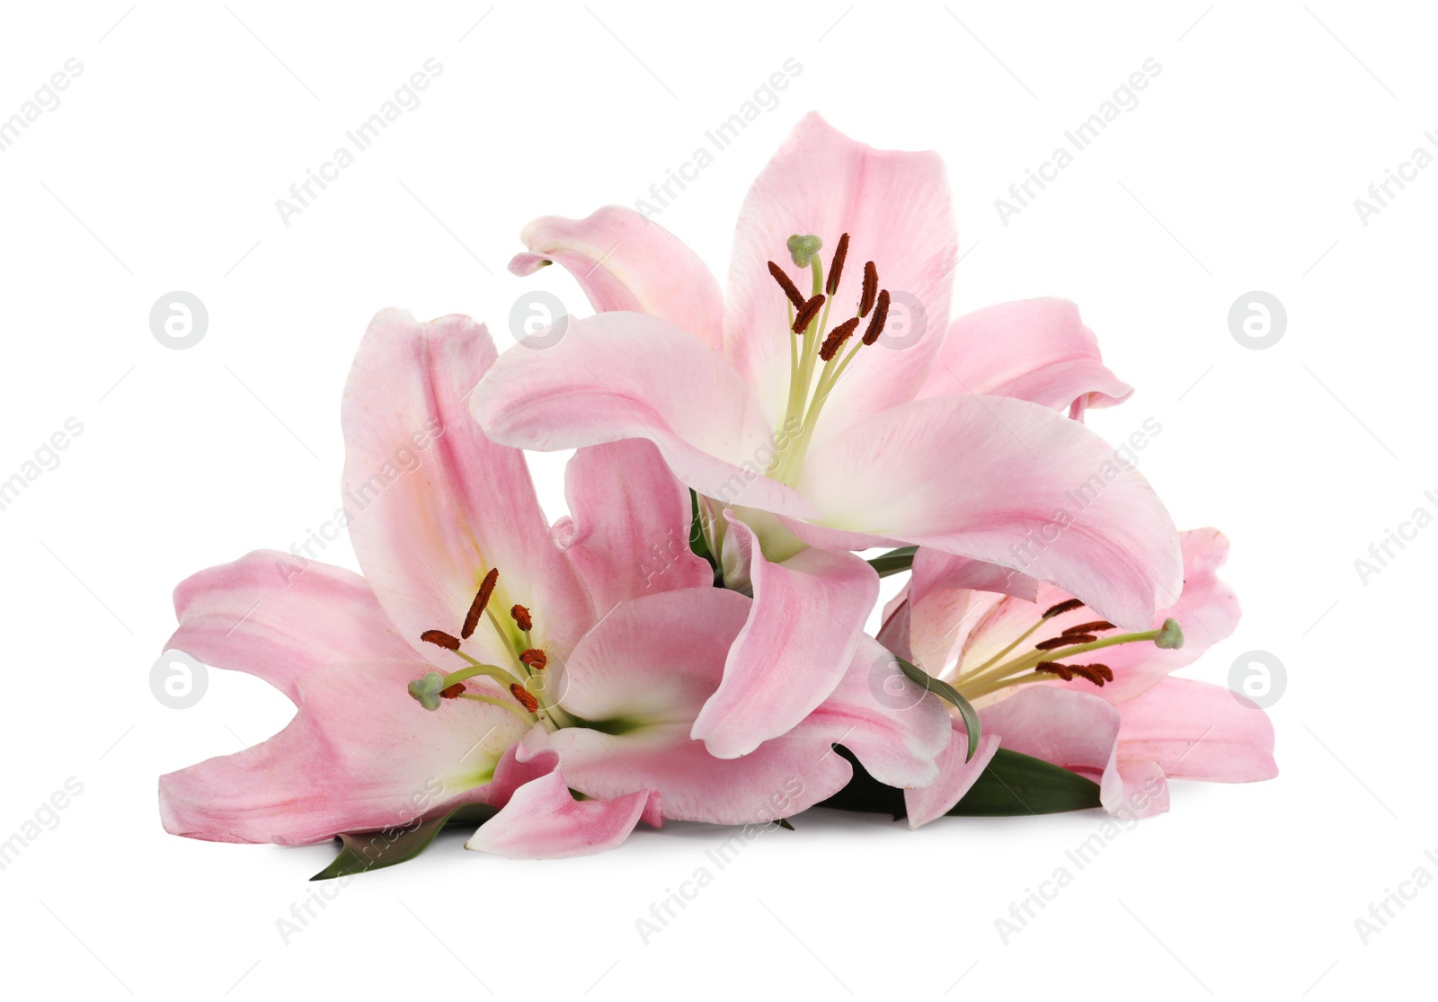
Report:
M1063 679L1064 681L1083 679L1103 687L1104 683L1113 681L1113 670L1107 664L1073 664L1063 658L1077 657L1104 647L1119 647L1120 644L1152 643L1155 647L1165 650L1183 645L1183 630L1179 627L1178 620L1173 618L1163 620L1163 625L1158 630L1122 634L1109 634L1107 631L1114 630L1114 625L1104 620L1096 620L1067 627L1058 635L1038 641L1031 650L1014 654L1020 644L1038 633L1045 622L1080 608L1083 608L1083 602L1077 598L1070 598L1047 610L1034 625L1021 633L1008 647L984 661L984 664L962 671L953 687L969 702L1002 689L1031 681L1051 681L1054 679Z

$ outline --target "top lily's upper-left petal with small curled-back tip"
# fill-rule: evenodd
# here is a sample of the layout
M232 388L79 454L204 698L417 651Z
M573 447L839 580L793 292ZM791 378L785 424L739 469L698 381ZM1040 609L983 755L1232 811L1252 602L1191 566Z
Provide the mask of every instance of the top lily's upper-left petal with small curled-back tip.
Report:
M531 253L509 262L515 275L558 262L597 312L649 313L723 351L719 283L679 237L633 208L605 206L582 220L542 216L519 239Z

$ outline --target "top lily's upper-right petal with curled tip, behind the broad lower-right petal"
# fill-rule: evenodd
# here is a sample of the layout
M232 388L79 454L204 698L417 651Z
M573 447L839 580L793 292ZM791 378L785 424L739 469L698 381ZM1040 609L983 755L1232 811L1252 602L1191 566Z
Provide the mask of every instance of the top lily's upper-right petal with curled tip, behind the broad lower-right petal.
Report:
M919 397L1015 397L1078 417L1132 392L1104 367L1074 303L1024 299L953 321Z

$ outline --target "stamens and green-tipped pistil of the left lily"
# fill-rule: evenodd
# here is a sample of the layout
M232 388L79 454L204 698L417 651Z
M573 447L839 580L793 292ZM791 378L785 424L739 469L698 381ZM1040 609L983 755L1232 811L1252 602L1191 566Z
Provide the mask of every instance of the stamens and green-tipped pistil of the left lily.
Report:
M535 647L531 640L529 631L533 630L533 617L529 614L529 610L518 604L510 607L509 618L513 627L509 627L490 608L489 599L493 597L498 584L499 568L490 568L479 585L475 601L470 602L464 622L460 625L459 637L443 630L426 630L420 634L420 640L453 651L467 661L469 666L449 674L437 670L426 671L410 683L410 696L426 710L437 710L440 700L469 699L476 703L503 707L525 723L542 723L548 730L572 726L574 720L559 709L558 702L551 696L551 687L545 680L549 656ZM495 633L509 648L513 658L513 664L509 668L498 664L486 664L464 653L464 641L475 634L480 617L489 617ZM464 683L480 677L499 683L499 687L508 691L509 697L469 691Z

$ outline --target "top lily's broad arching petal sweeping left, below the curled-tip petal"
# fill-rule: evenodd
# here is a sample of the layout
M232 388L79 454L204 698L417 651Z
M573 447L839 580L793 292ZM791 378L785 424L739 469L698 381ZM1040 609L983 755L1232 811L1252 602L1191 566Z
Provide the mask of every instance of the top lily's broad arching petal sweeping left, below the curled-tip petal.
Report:
M798 518L814 510L764 476L774 440L739 374L653 316L571 319L555 345L505 352L473 408L480 426L509 446L549 451L649 438L700 495Z

